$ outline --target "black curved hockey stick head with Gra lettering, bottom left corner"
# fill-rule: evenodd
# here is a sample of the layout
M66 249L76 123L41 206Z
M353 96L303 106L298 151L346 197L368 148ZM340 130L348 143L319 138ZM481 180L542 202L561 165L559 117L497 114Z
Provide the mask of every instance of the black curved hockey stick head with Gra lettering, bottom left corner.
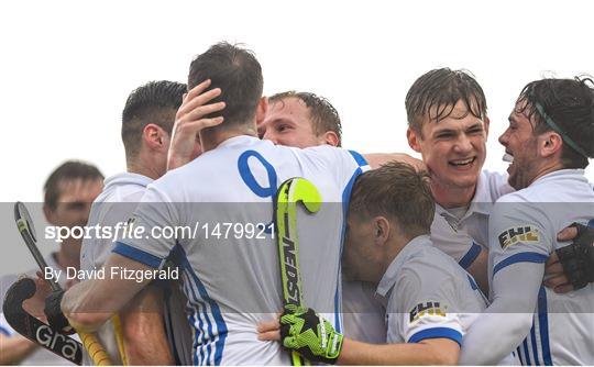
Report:
M35 294L35 281L22 278L7 291L2 311L8 323L19 334L76 365L82 365L82 344L54 331L23 310L23 301Z

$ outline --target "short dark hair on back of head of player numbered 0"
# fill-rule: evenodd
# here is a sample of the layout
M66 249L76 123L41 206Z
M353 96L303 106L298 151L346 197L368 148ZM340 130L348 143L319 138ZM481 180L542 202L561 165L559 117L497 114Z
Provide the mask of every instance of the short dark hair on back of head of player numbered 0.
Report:
M264 78L260 63L251 51L227 42L212 45L191 62L188 90L207 79L211 80L210 89L221 88L221 94L210 103L226 103L222 111L206 116L224 118L221 126L212 129L252 121L262 98Z

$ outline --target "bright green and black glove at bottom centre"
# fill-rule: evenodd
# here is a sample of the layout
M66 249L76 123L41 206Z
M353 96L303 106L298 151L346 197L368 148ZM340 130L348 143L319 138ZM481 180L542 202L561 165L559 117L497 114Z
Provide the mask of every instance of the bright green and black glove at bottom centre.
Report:
M286 348L299 352L311 362L336 364L342 349L343 335L316 311L285 305L280 315L280 340Z

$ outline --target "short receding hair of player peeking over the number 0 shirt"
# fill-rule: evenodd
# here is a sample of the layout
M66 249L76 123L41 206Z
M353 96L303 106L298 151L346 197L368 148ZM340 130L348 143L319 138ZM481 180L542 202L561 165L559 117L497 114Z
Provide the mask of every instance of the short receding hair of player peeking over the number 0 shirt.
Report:
M340 115L328 99L310 92L289 90L270 97L268 101L271 103L284 103L284 100L287 98L297 98L307 105L314 133L317 136L328 131L334 132L339 138L338 146L341 145L342 125L340 123Z

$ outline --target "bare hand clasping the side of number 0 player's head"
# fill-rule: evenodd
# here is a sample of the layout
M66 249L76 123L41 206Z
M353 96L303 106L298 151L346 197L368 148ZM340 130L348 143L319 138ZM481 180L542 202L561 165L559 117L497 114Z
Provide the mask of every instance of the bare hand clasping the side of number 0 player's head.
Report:
M204 129L216 126L223 122L222 116L206 119L213 112L224 109L224 102L209 103L221 94L220 88L207 90L210 79L194 87L184 96L184 101L175 114L172 131L172 143L167 154L167 169L180 167L202 153L198 133Z

